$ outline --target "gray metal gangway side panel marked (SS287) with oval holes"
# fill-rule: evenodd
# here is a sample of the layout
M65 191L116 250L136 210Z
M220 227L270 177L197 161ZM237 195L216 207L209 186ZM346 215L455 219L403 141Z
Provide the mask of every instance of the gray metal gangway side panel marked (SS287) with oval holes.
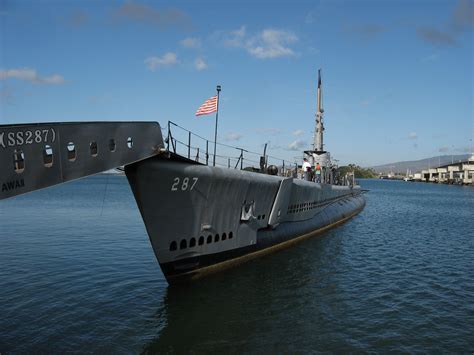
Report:
M0 125L0 200L148 158L155 122Z

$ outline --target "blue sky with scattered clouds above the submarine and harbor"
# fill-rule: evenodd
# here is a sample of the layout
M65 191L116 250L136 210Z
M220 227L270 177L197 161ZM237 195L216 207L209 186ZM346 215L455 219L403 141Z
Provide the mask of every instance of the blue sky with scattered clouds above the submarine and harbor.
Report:
M294 161L317 69L326 149L370 166L473 144L471 0L0 0L0 124L168 120Z

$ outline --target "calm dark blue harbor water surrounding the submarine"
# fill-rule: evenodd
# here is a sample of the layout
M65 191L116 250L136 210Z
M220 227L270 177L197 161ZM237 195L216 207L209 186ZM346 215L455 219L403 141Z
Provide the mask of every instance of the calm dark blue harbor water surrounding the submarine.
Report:
M474 188L361 184L344 225L176 288L124 177L2 201L0 352L473 353Z

